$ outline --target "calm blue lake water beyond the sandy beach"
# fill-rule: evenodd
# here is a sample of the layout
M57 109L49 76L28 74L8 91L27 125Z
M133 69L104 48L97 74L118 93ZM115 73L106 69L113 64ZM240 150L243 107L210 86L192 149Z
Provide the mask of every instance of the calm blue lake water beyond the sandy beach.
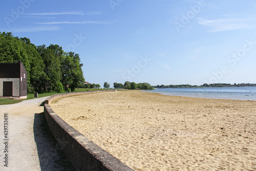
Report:
M256 101L256 87L229 87L229 88L169 88L147 90L145 92L160 93L170 96L254 100Z

